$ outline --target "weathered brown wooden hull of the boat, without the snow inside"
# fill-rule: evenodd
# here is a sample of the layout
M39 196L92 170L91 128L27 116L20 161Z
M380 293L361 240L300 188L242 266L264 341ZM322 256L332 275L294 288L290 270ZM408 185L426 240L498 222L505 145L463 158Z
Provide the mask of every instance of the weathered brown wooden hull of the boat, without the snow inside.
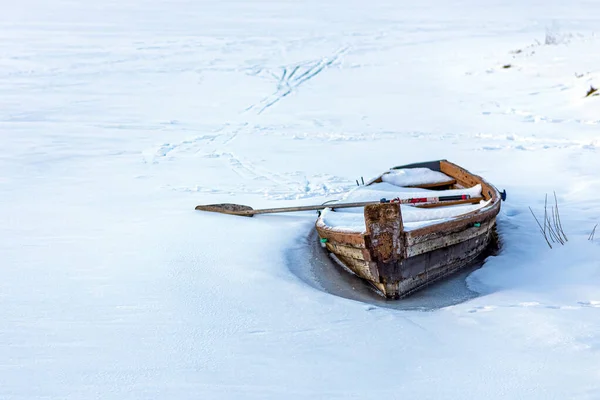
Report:
M400 205L394 203L365 207L366 232L338 232L317 222L317 232L327 250L390 299L410 295L470 265L497 242L498 191L481 177L448 161L426 165L445 169L459 184L482 184L485 195L492 200L489 207L408 231L403 229Z

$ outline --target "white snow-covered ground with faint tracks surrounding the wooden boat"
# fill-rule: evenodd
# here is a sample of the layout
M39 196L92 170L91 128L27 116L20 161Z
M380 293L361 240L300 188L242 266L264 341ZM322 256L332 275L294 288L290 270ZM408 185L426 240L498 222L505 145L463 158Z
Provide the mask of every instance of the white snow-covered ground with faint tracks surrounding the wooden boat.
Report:
M599 23L586 0L4 1L0 399L600 398ZM508 201L481 296L434 311L306 284L313 213L194 211L440 158ZM553 191L549 249L528 207Z

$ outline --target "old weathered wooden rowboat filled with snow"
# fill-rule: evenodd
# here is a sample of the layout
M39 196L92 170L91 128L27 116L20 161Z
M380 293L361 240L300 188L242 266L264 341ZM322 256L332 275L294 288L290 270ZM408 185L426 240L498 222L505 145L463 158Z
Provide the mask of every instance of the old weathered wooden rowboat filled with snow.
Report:
M397 299L458 271L495 240L501 195L447 160L394 167L323 210L321 244L352 273Z

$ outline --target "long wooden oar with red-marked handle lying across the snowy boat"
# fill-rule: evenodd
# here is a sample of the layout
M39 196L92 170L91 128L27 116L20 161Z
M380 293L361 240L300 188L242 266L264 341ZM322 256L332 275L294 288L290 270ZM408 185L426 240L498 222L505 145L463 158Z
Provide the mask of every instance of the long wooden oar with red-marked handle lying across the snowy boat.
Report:
M440 206L443 205L455 205L455 204L468 204L468 203L478 203L481 201L481 197L473 197L469 195L458 195L458 196L440 196L440 197L418 197L412 199L394 199L392 202L397 202L400 204L415 204L417 207L420 206L429 206L432 207L439 203ZM223 203L223 204L207 204L207 205L199 205L196 206L196 210L199 211L211 211L218 212L222 214L231 214L231 215L241 215L244 217L251 217L255 214L272 214L272 213L280 213L280 212L291 212L291 211L313 211L313 210L323 210L325 208L353 208L353 207L364 207L370 204L379 204L379 203L387 203L389 201L385 199L381 199L380 201L364 201L358 203L333 203L333 204L319 204L313 206L298 206L298 207L280 207L280 208L264 208L261 210L255 210L252 207L244 206L241 204L231 204L231 203ZM422 203L422 204L419 204Z

